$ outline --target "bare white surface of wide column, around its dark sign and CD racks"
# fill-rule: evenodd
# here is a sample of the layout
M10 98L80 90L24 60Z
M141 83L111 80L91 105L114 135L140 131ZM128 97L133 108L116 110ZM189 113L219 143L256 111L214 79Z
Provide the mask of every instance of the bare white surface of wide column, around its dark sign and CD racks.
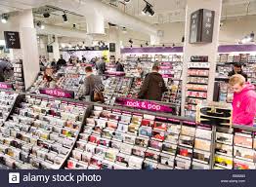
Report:
M191 44L191 15L199 9L207 9L215 12L212 42ZM207 100L213 100L214 80L216 71L220 19L222 11L222 0L188 0L186 7L186 24L185 24L185 46L184 46L184 66L183 66L183 90L182 90L182 115L185 114L185 105L187 97L187 78L188 78L188 63L191 61L191 56L208 56L210 63L209 81L207 90Z

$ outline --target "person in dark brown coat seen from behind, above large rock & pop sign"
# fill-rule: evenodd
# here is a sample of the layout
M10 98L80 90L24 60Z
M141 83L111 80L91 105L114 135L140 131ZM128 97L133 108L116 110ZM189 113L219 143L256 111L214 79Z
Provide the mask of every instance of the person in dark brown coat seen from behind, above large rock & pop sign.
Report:
M158 71L159 67L153 65L151 73L149 73L144 80L138 98L160 101L162 93L167 92L164 80Z

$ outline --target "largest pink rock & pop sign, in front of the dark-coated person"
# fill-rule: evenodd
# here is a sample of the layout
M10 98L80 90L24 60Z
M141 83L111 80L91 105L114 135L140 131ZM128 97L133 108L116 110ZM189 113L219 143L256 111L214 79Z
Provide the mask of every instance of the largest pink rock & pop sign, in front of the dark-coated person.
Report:
M115 98L115 103L122 106L132 107L135 109L138 108L138 109L149 110L153 112L165 112L165 113L175 114L174 107L157 103L154 101L149 101L149 100L144 101L144 100L137 100L137 99L130 99L130 98Z

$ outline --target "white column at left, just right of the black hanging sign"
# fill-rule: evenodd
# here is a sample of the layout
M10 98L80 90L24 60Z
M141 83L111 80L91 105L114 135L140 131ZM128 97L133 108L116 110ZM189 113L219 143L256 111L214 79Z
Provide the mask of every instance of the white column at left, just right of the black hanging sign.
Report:
M35 81L39 68L36 29L34 28L32 10L25 10L17 17L20 24L21 56L25 89Z

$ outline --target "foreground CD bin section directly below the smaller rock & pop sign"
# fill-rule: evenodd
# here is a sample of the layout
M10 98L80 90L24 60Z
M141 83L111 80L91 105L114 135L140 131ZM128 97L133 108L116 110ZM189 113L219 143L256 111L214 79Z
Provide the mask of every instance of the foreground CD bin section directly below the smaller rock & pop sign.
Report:
M63 168L84 123L86 103L19 94L0 127L1 168Z

